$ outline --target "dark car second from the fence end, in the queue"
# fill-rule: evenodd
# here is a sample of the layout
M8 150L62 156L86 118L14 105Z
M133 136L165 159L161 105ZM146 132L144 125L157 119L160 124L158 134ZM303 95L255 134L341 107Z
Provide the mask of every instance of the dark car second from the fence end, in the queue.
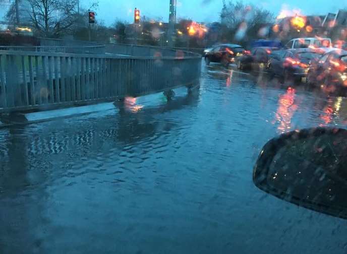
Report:
M248 54L244 54L237 58L236 62L239 70L265 69L270 55L276 50L278 50L277 47L253 48Z

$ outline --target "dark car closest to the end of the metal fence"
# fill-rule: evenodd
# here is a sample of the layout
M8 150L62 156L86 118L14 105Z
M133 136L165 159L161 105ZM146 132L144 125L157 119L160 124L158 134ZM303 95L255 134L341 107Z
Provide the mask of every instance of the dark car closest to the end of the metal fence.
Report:
M220 62L224 66L233 63L237 56L243 55L245 49L237 44L221 44L214 47L211 51L206 52L205 61L209 65L210 62Z

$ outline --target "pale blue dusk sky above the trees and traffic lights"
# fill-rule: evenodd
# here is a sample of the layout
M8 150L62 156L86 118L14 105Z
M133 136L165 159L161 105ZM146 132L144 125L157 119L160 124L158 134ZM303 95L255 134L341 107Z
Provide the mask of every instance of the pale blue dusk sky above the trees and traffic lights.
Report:
M80 0L84 7L92 0ZM228 2L228 0L226 0ZM345 1L341 1L345 2ZM280 10L299 9L303 14L325 15L327 12L337 12L341 8L340 3L326 0L249 0L244 3L253 3L266 8L277 15ZM346 6L347 6L347 2ZM199 22L219 21L219 13L222 9L222 0L178 0L177 17L191 18ZM141 15L149 18L162 18L168 20L169 0L99 0L97 19L102 19L106 24L111 24L115 19L133 21L134 8L141 10Z

